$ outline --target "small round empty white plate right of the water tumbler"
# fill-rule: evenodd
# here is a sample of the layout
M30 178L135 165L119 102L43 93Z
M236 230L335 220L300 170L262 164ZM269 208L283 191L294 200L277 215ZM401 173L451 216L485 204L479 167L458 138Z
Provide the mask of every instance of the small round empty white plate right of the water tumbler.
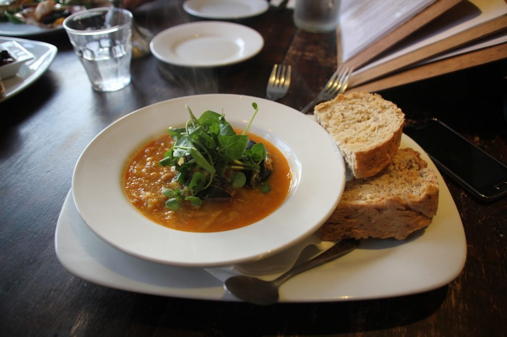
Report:
M245 61L264 47L257 31L232 22L199 21L161 31L152 39L152 54L184 67L219 67Z

